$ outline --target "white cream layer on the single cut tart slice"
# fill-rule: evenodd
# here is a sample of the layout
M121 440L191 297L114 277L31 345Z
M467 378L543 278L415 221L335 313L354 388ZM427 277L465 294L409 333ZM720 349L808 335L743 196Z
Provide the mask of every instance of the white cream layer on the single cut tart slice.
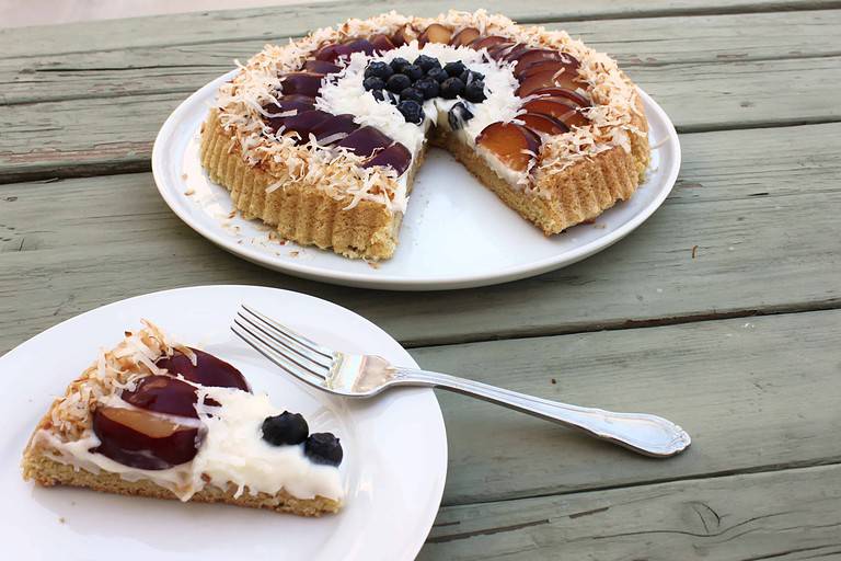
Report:
M233 483L239 488L237 496L245 491L273 495L283 489L298 499L320 495L342 501L344 488L337 467L311 462L303 455L303 445L272 446L263 439L263 420L283 413L267 396L232 388L201 388L199 402L204 401L201 396L210 397L221 407L197 407L204 425L199 451L193 461L169 469L133 468L92 453L101 444L93 433L66 443L42 430L36 438L46 445L45 454L56 461L92 473L118 473L126 481L149 480L171 490L182 501L188 501L208 483L221 489ZM110 400L108 405L119 403L130 407L122 400ZM191 420L184 421L178 417L182 424L189 424Z

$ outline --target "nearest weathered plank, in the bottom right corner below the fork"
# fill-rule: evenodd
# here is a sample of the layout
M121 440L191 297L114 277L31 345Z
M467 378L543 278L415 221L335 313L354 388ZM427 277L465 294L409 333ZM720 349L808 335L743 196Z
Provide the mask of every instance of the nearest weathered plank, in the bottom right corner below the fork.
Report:
M838 559L841 467L443 508L420 560Z

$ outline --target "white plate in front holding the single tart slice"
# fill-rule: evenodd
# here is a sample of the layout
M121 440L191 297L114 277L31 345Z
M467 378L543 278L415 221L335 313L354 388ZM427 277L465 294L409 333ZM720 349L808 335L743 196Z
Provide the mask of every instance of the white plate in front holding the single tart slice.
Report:
M414 559L431 527L447 470L447 438L430 389L389 392L372 401L338 400L293 381L228 329L240 302L331 346L415 362L393 339L333 304L286 290L207 286L155 293L90 311L0 358L0 543L3 559ZM180 341L233 363L255 391L300 411L311 426L342 438L346 507L299 518L227 505L125 497L76 489L41 489L21 478L20 459L53 397L89 366L102 346L141 318Z

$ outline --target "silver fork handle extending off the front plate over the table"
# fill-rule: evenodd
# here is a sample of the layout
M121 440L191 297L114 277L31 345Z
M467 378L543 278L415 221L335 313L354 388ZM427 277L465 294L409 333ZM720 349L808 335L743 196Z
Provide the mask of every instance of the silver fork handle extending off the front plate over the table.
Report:
M535 398L448 374L396 368L400 385L440 388L529 415L581 430L636 453L665 458L683 451L691 443L686 431L671 421L646 413L614 413Z

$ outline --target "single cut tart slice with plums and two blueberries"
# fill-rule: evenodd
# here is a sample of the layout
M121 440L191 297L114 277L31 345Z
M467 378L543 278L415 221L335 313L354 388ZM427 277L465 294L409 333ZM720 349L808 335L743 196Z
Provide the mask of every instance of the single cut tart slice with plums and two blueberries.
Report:
M342 506L342 457L235 367L145 322L55 400L22 467L43 486L321 516Z

